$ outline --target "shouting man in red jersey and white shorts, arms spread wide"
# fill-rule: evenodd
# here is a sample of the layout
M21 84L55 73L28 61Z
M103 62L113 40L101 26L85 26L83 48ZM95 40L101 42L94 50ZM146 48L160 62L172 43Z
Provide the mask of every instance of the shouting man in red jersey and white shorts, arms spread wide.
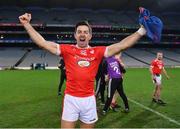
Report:
M93 128L98 120L94 80L99 63L103 57L115 55L134 45L146 34L146 30L141 27L137 32L108 47L91 47L89 41L92 38L92 28L87 22L76 24L76 45L70 45L46 41L31 26L31 14L25 13L19 20L35 44L64 59L67 81L61 128L74 128L78 119L81 128Z

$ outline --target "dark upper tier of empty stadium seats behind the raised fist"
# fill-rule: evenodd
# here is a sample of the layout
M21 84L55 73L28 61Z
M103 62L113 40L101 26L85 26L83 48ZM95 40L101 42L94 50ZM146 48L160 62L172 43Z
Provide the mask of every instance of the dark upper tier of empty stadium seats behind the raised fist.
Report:
M24 12L32 13L33 23L49 24L71 24L74 25L79 20L88 20L97 25L137 25L138 12L117 11L111 9L92 10L88 8L68 9L63 7L43 8L43 7L1 7L0 23L18 23L18 16ZM152 12L160 17L165 26L179 26L179 12Z

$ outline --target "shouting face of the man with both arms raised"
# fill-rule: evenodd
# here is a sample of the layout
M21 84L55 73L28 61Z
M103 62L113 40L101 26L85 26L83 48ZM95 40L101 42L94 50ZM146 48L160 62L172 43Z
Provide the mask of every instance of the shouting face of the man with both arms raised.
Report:
M77 41L78 47L85 48L88 46L89 41L91 40L92 34L89 31L88 26L82 25L82 26L77 27L74 37Z

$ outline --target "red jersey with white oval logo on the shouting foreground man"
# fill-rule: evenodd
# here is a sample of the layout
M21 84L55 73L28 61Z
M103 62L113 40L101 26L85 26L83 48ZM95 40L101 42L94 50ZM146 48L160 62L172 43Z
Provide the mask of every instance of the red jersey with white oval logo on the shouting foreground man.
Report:
M78 48L61 44L59 48L66 66L65 94L76 97L94 95L94 80L106 47Z

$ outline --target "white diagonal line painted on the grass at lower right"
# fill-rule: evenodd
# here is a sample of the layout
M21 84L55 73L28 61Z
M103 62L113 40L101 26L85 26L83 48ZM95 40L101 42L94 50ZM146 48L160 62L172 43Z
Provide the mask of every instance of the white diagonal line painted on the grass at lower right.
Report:
M170 121L170 122L172 122L172 123L174 123L174 124L180 125L180 123L179 123L178 121L176 121L176 120L174 120L174 119L172 119L172 118L170 118L170 117L168 117L168 116L165 116L165 115L163 115L162 113L160 113L160 112L158 112L158 111L155 111L155 110L153 110L153 109L151 109L151 108L149 108L149 107L147 107L147 106L144 106L143 104L140 104L139 102L137 102L137 101L135 101L135 100L132 100L132 99L130 99L130 98L128 98L128 100L131 101L132 103L135 103L136 105L138 105L138 106L140 106L140 107L142 107L142 108L150 111L150 112L153 112L153 113L155 113L155 114L163 117L164 119L166 119L166 120L168 120L168 121Z

